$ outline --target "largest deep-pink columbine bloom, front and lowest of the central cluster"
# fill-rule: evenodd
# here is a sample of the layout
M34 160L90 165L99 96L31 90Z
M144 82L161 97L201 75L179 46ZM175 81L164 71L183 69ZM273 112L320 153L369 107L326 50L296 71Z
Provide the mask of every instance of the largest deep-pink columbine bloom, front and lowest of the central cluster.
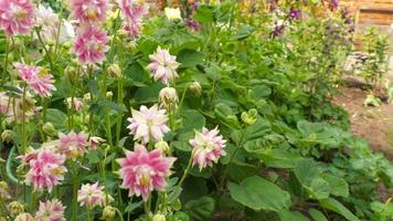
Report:
M129 196L142 196L147 201L151 191L164 190L174 160L158 149L149 152L144 146L136 145L135 151L126 150L126 158L117 159L121 167L121 187L129 190Z

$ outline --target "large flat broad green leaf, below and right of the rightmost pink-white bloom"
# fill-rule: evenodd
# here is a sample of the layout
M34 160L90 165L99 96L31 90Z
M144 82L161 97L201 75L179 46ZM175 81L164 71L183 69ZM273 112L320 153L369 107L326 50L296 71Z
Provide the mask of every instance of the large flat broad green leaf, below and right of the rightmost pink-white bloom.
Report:
M248 177L241 185L230 183L231 197L254 210L280 211L290 206L290 194L262 178Z

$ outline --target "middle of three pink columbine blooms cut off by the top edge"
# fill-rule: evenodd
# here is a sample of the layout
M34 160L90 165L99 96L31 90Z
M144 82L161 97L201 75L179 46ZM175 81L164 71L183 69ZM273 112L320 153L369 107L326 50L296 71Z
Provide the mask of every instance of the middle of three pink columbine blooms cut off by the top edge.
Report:
M107 9L107 0L71 0L72 18L83 23L105 21Z

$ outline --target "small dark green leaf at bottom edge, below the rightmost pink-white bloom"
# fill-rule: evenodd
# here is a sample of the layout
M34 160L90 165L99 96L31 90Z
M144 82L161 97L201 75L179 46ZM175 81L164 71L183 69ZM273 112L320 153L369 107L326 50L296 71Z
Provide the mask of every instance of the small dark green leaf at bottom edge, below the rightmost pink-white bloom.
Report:
M210 197L202 197L198 200L191 200L185 203L184 212L187 212L192 220L205 221L210 220L215 208L215 201Z

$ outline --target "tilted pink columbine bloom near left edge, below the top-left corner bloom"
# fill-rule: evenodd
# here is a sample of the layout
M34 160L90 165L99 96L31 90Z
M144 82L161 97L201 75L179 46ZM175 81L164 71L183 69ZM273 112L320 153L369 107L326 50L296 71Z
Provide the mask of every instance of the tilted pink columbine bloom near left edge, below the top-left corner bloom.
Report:
M56 87L53 86L53 75L49 74L45 69L22 63L15 63L14 66L19 72L19 77L25 82L35 94L42 97L49 97L52 96L52 91L56 91Z

